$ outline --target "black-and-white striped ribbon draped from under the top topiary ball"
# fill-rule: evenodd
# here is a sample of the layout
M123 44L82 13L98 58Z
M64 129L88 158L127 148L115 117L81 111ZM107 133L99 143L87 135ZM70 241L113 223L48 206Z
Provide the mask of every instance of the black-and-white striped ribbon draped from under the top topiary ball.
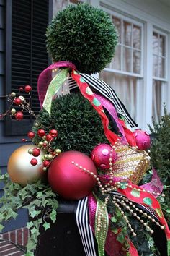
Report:
M83 73L80 73L80 74L84 78L85 82L87 82L89 84L89 86L91 86L91 88L94 88L99 93L104 95L104 97L109 99L109 101L112 102L112 104L115 106L115 108L117 110L117 113L124 116L126 121L128 122L128 124L130 124L131 127L137 127L138 126L138 124L136 124L135 121L133 121L133 119L131 118L130 114L128 113L128 111L125 108L122 101L120 101L120 99L117 97L117 94L115 93L115 90L113 90L103 80L97 79L97 77L92 77L89 74L83 74ZM68 81L69 81L70 90L77 87L76 81L74 81L71 77L69 77Z

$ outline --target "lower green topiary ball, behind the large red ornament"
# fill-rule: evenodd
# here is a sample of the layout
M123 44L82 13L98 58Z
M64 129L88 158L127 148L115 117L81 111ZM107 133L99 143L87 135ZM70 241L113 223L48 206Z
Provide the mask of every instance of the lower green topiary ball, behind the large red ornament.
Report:
M57 129L58 137L51 144L52 148L61 151L77 150L89 155L99 142L108 142L103 131L102 121L97 111L81 94L68 94L56 98L51 107L51 117L43 109L37 117L45 132ZM35 136L37 144L41 138Z

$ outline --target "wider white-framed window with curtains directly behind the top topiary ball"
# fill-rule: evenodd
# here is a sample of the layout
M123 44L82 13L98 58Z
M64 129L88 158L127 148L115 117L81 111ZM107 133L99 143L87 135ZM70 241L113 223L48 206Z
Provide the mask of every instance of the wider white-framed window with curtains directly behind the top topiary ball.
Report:
M130 115L137 120L138 88L143 78L143 24L120 14L110 14L119 35L115 57L99 74L114 88Z

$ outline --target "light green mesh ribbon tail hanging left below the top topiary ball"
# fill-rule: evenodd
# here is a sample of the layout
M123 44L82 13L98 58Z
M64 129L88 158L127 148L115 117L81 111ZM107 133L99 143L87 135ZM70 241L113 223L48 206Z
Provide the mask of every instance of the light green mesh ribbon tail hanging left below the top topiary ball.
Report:
M61 69L61 72L56 74L55 77L53 77L53 80L51 80L50 85L48 85L48 90L42 106L46 111L48 111L49 116L53 95L55 95L55 93L57 93L60 89L61 85L63 85L63 82L66 80L68 71L69 69Z

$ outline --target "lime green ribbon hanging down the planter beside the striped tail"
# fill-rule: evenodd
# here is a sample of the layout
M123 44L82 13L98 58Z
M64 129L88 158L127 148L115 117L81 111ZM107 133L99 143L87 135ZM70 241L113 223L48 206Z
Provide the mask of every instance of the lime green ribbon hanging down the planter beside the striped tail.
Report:
M107 206L104 202L97 198L97 209L95 215L95 236L98 244L99 256L104 256L104 246L107 238L107 231L109 227L109 216L107 212ZM100 230L98 230L100 226Z

